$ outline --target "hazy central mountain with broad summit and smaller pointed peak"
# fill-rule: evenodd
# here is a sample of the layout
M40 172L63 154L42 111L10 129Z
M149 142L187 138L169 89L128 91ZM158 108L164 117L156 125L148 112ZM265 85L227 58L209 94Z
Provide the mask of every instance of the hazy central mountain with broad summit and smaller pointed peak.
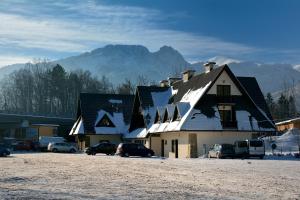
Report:
M67 70L86 69L96 76L105 75L115 84L125 78L135 81L139 75L159 81L190 65L172 47L163 46L149 52L140 45L108 45L56 62Z

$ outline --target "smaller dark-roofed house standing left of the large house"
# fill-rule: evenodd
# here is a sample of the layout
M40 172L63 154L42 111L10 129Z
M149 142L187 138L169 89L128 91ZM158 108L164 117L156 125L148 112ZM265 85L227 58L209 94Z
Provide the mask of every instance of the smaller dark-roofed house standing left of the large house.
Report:
M102 141L119 143L128 130L133 95L82 93L69 135L81 150Z

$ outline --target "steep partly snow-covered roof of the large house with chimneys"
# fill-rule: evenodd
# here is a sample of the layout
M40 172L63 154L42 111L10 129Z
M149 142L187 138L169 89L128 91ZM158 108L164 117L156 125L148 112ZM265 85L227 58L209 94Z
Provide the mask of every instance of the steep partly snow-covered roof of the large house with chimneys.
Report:
M178 81L170 87L171 92L167 89L151 92L151 95L148 95L148 99L146 99L147 102L153 101L153 104L146 108L142 106L144 108L143 115L154 118L153 113L156 111L160 114L160 118L163 118L162 110L165 109L168 111L170 120L156 123L153 123L153 120L151 120L147 123L146 132L222 131L226 129L220 119L218 98L211 94L205 95L223 70L230 74L234 84L242 91L242 95L231 97L232 100L230 101L236 110L236 121L232 122L233 129L237 131L275 131L272 117L269 115L265 103L260 102L265 101L262 93L255 93L255 90L260 91L255 78L242 77L241 80L244 84L247 84L249 81L254 85L252 87L243 87L228 66L223 66L212 70L210 73L194 76L187 82ZM252 99L251 95L256 96ZM151 100L149 100L149 96ZM153 107L156 107L156 109ZM176 119L173 118L175 108L177 108L179 115ZM142 131L145 130L142 129Z

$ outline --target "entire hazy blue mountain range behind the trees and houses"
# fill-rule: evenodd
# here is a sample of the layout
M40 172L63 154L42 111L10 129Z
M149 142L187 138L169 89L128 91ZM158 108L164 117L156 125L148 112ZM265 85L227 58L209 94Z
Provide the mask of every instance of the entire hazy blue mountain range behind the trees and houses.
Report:
M279 91L283 89L284 83L291 81L300 83L300 71L291 64L262 64L222 56L208 60L216 61L218 65L227 63L237 76L256 77L264 93ZM189 63L169 46L150 52L141 45L107 45L53 63L61 64L66 70L84 69L98 77L105 75L113 84L119 84L126 78L135 82L139 75L150 81L160 81L180 74L186 68L202 72L204 62ZM0 78L23 66L16 64L0 68Z

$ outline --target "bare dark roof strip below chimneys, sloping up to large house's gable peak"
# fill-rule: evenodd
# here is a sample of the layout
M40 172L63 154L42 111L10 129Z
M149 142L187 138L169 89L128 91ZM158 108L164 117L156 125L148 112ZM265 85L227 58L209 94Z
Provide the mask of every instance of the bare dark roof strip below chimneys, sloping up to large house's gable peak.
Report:
M210 81L215 81L221 72L224 70L224 68L227 67L227 65L215 68L211 70L209 73L202 73L193 76L190 80L184 82L176 81L173 84L173 89L177 90L177 94L172 98L171 102L179 102L182 97L188 92L188 90L197 90L198 88L206 86Z

